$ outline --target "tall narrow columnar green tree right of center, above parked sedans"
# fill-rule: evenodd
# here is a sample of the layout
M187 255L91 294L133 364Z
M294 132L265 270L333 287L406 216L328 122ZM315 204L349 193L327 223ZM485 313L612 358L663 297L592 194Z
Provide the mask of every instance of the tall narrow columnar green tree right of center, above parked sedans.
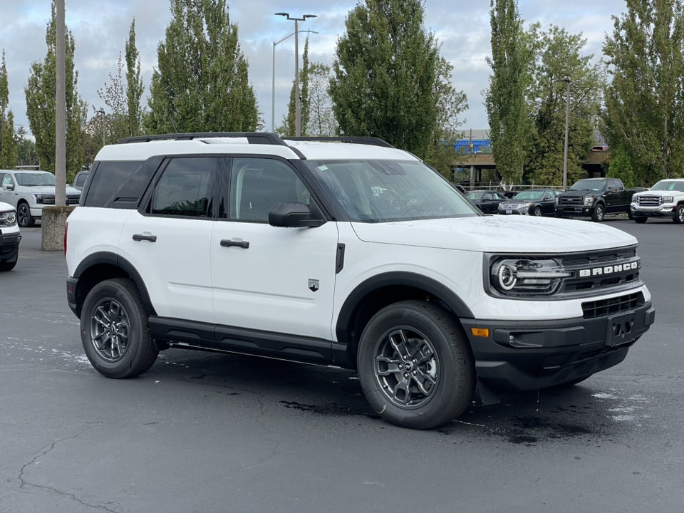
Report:
M497 170L505 183L522 180L529 135L529 108L525 98L532 81L534 55L527 44L517 0L491 0L492 76L484 93L489 136Z

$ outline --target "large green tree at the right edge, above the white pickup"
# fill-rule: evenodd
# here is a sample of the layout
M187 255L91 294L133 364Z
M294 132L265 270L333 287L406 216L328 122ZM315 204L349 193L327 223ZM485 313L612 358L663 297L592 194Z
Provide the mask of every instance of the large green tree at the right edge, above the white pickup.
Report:
M606 137L624 147L640 180L684 175L684 6L681 0L626 0L603 53Z

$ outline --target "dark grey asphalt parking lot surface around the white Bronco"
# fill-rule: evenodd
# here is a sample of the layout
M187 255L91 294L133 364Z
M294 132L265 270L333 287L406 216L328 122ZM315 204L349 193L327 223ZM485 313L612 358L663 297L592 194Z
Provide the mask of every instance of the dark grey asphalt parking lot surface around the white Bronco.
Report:
M425 432L380 420L350 371L170 350L103 378L63 254L23 229L0 274L0 512L680 513L684 227L606 224L639 239L657 311L626 361Z

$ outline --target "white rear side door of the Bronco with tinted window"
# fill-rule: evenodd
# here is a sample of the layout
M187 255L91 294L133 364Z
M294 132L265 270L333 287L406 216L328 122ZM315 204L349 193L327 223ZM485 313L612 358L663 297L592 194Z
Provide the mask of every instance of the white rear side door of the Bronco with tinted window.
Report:
M214 323L209 245L222 157L173 157L123 227L119 254L138 270L157 315Z

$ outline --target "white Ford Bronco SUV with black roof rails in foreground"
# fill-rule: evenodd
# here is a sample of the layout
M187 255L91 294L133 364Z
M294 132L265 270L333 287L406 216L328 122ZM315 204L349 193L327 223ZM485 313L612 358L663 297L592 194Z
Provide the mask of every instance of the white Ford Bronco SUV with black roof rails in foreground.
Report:
M655 319L637 241L484 216L369 138L129 138L68 218L68 302L93 366L165 348L353 368L373 409L430 428L498 393L614 366Z

